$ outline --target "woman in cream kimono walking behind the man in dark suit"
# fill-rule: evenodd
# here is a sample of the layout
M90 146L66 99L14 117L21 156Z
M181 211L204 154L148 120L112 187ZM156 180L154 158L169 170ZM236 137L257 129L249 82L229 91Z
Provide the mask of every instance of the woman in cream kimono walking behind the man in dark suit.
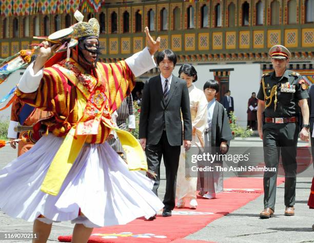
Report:
M204 131L207 121L207 100L202 90L196 88L192 83L198 80L197 71L192 65L184 64L179 70L179 77L186 80L189 90L190 110L192 119L192 141L191 146L204 148ZM194 152L194 151L193 151ZM185 201L189 200L190 209L196 209L197 198L197 176L185 174L185 150L181 146L179 169L176 178L176 207L184 208Z

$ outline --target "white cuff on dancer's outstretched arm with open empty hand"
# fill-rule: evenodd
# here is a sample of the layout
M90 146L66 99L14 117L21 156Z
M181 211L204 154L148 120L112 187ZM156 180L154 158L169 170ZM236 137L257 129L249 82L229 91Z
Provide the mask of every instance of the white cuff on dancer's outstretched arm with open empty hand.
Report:
M150 69L156 67L154 56L149 53L147 47L144 50L136 52L132 56L125 59L126 64L132 70L135 77L142 75Z

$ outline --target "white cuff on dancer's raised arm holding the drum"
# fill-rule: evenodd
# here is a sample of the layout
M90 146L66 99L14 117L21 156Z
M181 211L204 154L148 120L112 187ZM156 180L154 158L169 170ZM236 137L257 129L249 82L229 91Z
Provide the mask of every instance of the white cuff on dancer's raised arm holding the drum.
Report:
M39 84L41 83L42 77L44 76L44 69L34 74L33 65L34 63L31 63L27 67L27 69L23 73L23 76L19 80L18 89L21 90L23 93L35 92L38 89Z

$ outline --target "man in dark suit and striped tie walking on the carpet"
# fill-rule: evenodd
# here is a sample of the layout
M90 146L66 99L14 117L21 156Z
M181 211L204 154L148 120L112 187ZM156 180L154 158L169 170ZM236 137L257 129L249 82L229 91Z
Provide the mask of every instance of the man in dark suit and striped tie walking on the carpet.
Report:
M145 149L148 169L156 174L153 186L156 195L163 156L166 167L166 193L162 216L167 217L171 216L175 204L175 179L180 148L182 143L186 150L191 146L192 123L186 82L172 75L176 55L169 49L163 50L156 56L156 62L161 74L150 78L144 86L139 137Z

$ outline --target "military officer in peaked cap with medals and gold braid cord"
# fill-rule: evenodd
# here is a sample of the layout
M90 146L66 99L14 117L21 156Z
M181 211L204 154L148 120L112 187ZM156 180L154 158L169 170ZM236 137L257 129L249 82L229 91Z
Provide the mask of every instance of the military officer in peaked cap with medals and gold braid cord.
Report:
M300 132L298 120L300 110L303 127L300 132L302 140L308 140L309 109L307 105L307 87L302 76L287 70L291 53L281 45L270 48L269 53L274 71L262 76L257 95L258 131L263 139L266 168L276 168L276 172L264 172L264 210L261 218L273 216L276 200L276 182L281 152L285 171L285 215L295 214L297 143ZM264 112L264 120L262 113Z

